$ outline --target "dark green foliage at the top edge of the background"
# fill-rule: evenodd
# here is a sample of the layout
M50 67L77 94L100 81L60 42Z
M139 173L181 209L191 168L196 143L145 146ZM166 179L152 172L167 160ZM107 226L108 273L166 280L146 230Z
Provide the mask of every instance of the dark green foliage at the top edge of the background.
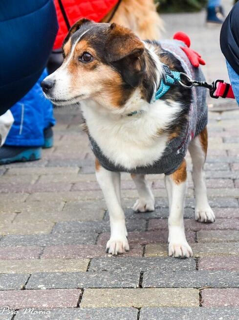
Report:
M200 11L207 0L155 0L158 12L193 12Z

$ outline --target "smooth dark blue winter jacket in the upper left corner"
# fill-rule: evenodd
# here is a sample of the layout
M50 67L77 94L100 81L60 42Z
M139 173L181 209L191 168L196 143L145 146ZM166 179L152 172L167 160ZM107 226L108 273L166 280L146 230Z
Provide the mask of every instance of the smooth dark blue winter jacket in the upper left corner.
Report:
M0 115L40 78L57 31L53 0L0 0Z

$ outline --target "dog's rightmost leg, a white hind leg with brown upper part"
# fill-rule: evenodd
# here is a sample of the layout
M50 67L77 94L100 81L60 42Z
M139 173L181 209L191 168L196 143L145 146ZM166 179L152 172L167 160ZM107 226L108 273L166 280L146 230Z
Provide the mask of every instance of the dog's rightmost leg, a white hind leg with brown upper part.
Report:
M193 182L195 187L195 219L200 222L214 222L215 215L208 203L203 165L207 154L207 128L191 141L189 152L193 161Z

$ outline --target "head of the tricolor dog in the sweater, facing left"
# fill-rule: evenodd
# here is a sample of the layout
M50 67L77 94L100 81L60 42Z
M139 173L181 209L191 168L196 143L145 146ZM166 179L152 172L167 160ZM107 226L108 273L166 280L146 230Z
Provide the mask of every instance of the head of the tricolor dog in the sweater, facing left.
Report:
M91 98L121 108L142 81L144 49L130 29L81 19L69 30L64 62L44 79L43 91L57 105Z

